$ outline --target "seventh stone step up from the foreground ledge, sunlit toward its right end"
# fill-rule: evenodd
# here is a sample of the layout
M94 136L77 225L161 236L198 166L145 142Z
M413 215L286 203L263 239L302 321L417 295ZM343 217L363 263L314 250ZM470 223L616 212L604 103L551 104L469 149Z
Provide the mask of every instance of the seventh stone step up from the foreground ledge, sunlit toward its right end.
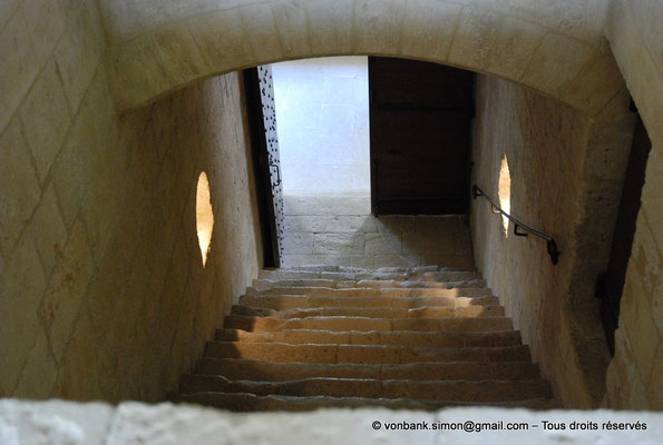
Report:
M439 307L422 306L417 308L397 307L313 307L305 309L276 310L256 308L250 306L234 305L231 309L233 315L248 315L254 317L272 317L279 319L328 317L328 316L354 316L367 318L452 318L452 317L504 317L501 306L466 306L466 307Z

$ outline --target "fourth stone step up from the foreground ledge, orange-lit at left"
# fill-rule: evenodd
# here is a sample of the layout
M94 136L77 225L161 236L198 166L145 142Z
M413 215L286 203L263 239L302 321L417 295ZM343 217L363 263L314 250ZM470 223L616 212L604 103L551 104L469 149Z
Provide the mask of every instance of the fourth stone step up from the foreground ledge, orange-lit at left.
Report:
M527 362L529 348L431 348L393 345L290 345L286 343L207 342L205 357L300 363L404 364L429 362Z

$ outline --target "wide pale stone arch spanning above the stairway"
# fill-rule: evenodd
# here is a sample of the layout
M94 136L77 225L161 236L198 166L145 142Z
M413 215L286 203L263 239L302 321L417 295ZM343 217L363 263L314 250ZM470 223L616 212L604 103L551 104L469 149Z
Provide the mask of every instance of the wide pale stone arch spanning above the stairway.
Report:
M163 3L107 1L103 8L110 38L110 85L120 110L237 69L339 55L402 57L489 73L591 116L623 88L603 36L605 2Z

